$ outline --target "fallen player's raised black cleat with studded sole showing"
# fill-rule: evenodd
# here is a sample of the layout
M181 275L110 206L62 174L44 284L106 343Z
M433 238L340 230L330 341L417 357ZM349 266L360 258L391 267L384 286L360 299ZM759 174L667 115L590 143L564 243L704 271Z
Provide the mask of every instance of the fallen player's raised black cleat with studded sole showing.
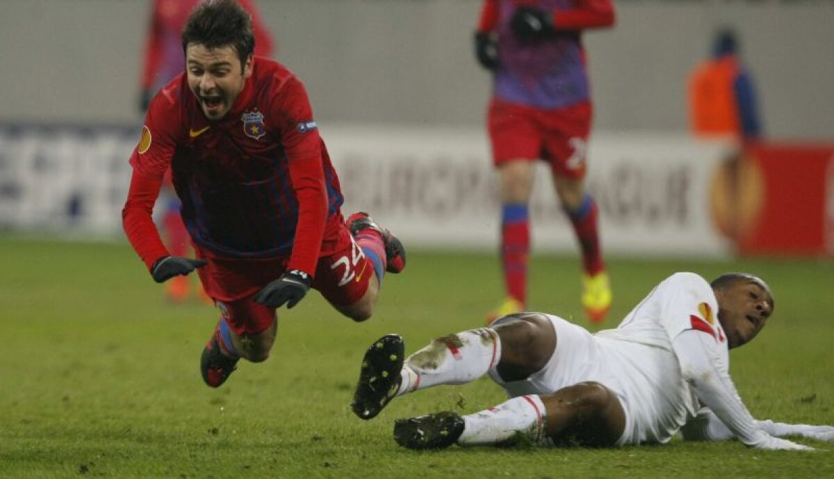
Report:
M370 345L362 359L359 382L350 408L359 419L369 420L394 399L402 381L405 344L400 335L384 335Z

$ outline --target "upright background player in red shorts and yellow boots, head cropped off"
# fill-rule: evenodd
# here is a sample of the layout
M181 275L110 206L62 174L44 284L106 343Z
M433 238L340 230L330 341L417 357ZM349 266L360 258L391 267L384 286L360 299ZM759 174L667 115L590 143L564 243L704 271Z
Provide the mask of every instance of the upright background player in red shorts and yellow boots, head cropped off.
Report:
M475 53L495 76L487 124L499 176L506 287L490 320L526 307L528 204L537 159L550 165L581 247L585 312L600 322L610 308L598 209L585 190L592 106L581 33L610 27L614 17L610 0L485 0L481 9Z

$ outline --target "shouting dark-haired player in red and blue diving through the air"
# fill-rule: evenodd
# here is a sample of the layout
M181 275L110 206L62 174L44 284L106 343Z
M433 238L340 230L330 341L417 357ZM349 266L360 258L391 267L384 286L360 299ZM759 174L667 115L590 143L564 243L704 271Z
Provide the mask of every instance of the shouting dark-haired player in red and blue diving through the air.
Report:
M287 68L254 57L249 14L234 0L200 5L183 28L184 73L150 102L133 166L123 226L161 283L198 269L220 319L200 369L218 387L239 358L264 361L276 309L309 288L361 321L383 275L399 273L399 239L357 213L345 221L339 177L319 136L304 85ZM173 255L153 224L153 204L172 171L196 260Z

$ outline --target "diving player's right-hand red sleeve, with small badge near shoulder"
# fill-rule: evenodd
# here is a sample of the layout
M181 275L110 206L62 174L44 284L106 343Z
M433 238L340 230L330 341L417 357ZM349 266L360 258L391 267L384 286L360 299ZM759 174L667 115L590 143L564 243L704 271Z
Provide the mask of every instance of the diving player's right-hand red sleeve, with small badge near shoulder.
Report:
M299 202L293 252L288 270L314 275L324 238L328 200L322 167L323 142L313 119L307 92L298 78L290 77L274 100L274 118L289 164L289 178Z

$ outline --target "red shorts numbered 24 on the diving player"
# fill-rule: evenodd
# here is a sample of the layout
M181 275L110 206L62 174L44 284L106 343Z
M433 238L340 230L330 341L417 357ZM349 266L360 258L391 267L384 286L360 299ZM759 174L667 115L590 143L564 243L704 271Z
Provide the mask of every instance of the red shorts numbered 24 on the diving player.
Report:
M339 221L319 257L312 287L334 305L350 305L362 299L374 276L374 265L364 255L347 226ZM272 308L254 302L254 295L286 270L289 257L233 259L214 255L198 246L197 257L208 264L198 268L203 289L220 309L235 333L256 334L275 321Z

